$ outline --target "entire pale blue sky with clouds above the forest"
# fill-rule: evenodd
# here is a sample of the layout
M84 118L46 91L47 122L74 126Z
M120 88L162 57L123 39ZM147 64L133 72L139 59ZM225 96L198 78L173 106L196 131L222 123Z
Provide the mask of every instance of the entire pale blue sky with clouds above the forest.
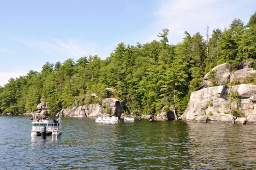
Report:
M0 86L10 78L41 71L46 62L106 59L117 44L159 40L169 44L212 29L245 24L256 0L0 0Z

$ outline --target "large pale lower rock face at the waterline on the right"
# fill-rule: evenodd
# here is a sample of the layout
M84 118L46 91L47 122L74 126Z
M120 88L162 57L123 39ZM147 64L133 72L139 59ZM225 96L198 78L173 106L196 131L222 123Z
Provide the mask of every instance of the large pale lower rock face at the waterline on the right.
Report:
M231 90L238 91L239 103L227 98ZM231 112L238 108L242 117L237 118L236 123L256 123L256 102L251 100L255 93L256 85L252 84L203 88L191 94L181 118L199 122L234 122Z

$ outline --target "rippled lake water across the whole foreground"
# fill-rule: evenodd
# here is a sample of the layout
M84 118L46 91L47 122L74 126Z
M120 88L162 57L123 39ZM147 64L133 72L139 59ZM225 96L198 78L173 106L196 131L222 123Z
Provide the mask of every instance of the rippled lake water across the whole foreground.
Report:
M256 169L256 125L62 118L30 137L30 117L0 116L0 169Z

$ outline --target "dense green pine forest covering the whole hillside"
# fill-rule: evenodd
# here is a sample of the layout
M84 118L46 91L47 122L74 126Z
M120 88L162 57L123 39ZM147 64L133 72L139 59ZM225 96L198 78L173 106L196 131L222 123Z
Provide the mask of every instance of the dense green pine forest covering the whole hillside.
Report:
M155 114L171 105L182 113L212 67L256 59L256 13L247 25L235 18L228 29L214 29L211 35L207 26L205 39L185 32L176 45L168 44L168 31L159 33L160 41L120 43L105 60L96 55L47 62L40 73L30 70L10 79L0 87L0 112L32 111L41 98L53 108L99 103L109 87L115 89L113 97L126 101L129 113Z

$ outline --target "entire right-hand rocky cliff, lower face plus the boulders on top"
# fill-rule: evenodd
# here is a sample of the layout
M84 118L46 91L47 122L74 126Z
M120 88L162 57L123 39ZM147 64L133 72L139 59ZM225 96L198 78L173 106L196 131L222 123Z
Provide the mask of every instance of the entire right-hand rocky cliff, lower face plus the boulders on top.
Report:
M250 63L249 63L250 64ZM256 85L229 85L234 79L238 83L254 79L256 70L242 64L240 70L230 71L229 64L221 64L212 70L216 73L219 86L209 87L209 74L204 76L204 88L191 94L182 120L199 122L256 123ZM221 85L226 84L226 85ZM234 116L238 113L240 116Z

